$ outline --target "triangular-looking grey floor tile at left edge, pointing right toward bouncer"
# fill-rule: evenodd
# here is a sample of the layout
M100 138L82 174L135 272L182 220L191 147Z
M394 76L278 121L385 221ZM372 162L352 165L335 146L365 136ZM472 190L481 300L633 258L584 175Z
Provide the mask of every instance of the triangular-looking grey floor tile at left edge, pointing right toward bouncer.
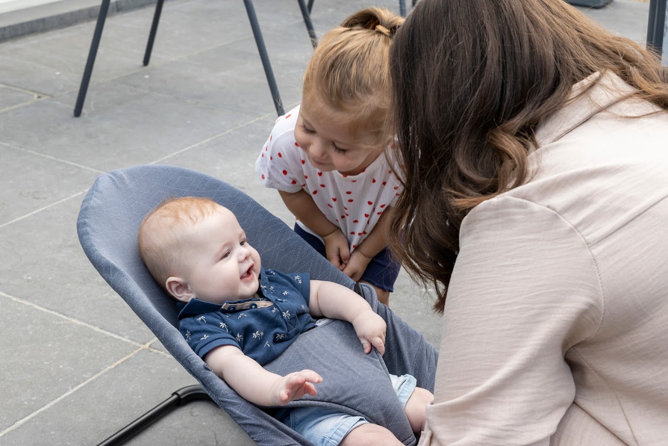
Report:
M0 337L11 340L0 344L0 431L137 348L5 294L0 294L0 304L5 321L0 325ZM33 437L32 441L39 438L46 437ZM7 443L5 437L0 440L4 445L17 444Z

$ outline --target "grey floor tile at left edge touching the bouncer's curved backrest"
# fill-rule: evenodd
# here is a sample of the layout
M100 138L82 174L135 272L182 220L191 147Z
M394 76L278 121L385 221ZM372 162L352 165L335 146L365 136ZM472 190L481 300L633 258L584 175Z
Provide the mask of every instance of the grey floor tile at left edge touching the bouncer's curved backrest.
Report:
M83 194L0 229L0 291L144 343L153 334L83 253ZM48 227L49 231L42 228Z

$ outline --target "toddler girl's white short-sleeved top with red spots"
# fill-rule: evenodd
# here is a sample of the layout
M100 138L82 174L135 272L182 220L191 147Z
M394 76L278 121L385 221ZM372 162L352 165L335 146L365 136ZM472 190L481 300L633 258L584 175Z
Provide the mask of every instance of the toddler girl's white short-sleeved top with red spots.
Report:
M255 171L265 187L288 193L307 191L325 217L347 235L353 251L401 195L401 183L385 154L359 175L315 168L295 140L298 115L299 106L277 119L255 162ZM317 236L299 219L297 224Z

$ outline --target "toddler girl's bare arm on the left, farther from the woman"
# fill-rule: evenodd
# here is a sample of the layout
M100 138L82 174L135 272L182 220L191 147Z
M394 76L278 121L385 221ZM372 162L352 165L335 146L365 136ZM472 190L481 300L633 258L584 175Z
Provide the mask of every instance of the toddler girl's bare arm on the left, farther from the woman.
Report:
M343 270L350 258L350 247L348 238L341 229L325 217L307 192L303 190L296 193L279 191L279 194L285 206L295 217L307 225L311 231L323 237L327 260Z

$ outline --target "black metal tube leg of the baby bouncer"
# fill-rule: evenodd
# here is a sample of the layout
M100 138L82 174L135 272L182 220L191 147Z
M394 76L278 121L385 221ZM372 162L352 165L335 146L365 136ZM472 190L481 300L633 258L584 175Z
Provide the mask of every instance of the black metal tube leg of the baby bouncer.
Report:
M191 401L208 399L211 400L208 393L199 384L186 386L172 393L172 396L109 437L102 441L98 446L118 446L122 445L130 438L134 437L158 418L173 411L178 406L186 405ZM211 400L212 401L212 400Z

